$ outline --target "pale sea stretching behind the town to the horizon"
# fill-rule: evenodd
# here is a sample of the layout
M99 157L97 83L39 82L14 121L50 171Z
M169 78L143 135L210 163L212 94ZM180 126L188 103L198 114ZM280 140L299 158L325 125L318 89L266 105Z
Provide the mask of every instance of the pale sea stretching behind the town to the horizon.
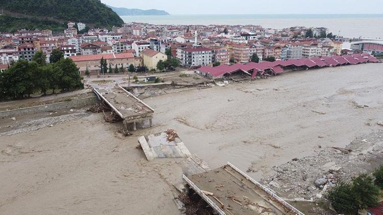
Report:
M122 16L125 22L150 24L261 25L284 29L292 26L325 27L346 38L383 40L383 14L257 14L257 15L166 15Z

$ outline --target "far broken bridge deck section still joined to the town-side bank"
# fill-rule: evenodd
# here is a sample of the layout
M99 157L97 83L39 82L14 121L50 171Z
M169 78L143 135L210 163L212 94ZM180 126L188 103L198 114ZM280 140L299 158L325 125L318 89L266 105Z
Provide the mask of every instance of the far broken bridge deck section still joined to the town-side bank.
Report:
M114 88L93 89L121 118L124 123L135 123L146 119L151 121L154 110L135 97L133 94L117 85ZM135 125L134 125L135 126Z

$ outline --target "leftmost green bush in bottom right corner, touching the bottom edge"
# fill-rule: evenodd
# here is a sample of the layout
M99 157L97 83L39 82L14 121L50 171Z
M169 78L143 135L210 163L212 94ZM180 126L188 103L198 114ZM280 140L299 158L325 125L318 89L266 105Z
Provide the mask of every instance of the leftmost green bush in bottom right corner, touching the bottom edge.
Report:
M358 211L350 182L340 181L327 192L325 198L338 213L355 214Z

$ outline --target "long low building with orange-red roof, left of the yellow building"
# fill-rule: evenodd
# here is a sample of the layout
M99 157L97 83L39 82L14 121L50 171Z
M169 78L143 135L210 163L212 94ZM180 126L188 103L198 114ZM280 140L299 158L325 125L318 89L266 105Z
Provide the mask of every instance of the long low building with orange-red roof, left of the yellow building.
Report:
M100 66L101 58L104 58L108 65L112 68L117 66L118 68L123 66L128 68L130 64L136 65L134 56L132 53L108 53L108 54L99 54L99 55L88 55L88 56L71 56L77 67L80 70L80 73L84 75L86 69L89 70L91 74L106 73L108 68L102 68Z

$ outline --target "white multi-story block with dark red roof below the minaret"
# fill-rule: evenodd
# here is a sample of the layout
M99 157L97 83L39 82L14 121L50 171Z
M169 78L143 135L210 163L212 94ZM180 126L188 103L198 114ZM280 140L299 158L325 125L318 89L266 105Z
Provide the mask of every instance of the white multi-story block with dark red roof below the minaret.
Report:
M213 63L214 53L210 48L179 48L177 51L182 66L206 66Z

